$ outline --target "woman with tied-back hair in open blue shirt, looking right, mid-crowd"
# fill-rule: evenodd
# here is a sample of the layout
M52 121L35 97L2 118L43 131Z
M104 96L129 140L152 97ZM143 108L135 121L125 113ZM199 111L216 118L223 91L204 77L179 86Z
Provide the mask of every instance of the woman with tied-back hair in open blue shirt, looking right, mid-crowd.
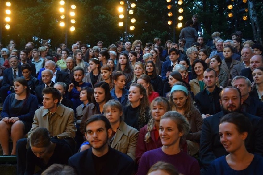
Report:
M118 100L124 108L128 102L129 91L125 89L125 75L117 71L112 76L114 88L111 90L112 99Z

